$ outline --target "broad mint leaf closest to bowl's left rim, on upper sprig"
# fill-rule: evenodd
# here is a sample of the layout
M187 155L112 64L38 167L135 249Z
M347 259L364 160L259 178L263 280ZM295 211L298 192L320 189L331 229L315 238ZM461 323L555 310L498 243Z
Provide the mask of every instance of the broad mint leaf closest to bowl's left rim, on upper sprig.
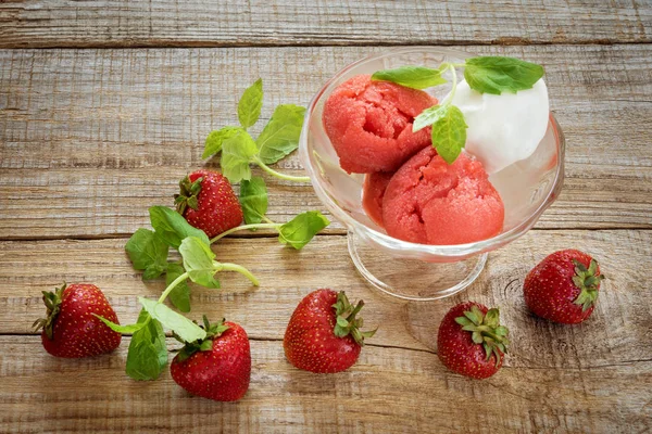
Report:
M299 146L305 107L281 104L274 110L272 118L256 139L260 158L274 164Z

